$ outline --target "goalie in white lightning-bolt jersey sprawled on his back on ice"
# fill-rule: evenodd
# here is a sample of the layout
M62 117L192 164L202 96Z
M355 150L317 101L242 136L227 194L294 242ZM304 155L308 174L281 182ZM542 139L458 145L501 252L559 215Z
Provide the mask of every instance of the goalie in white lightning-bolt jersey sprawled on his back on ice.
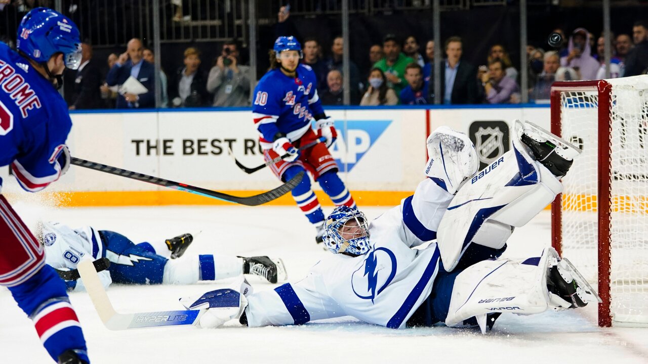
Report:
M514 227L561 192L559 178L580 152L530 123L516 121L516 135L513 150L476 173L469 138L441 127L428 137L428 178L413 196L371 222L359 210L334 209L324 235L334 255L305 279L258 293L243 281L181 302L208 308L200 318L207 328L231 319L256 327L349 315L389 328L441 322L478 324L482 332L502 312L596 302L588 282L551 247L519 260L499 258Z

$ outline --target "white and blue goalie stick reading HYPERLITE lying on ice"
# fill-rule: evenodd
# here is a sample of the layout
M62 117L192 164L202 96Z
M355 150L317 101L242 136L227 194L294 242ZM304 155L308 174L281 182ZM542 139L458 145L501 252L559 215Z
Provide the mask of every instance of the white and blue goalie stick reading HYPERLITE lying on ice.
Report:
M115 311L110 299L99 280L91 260L84 260L77 266L87 294L106 328L110 330L127 330L158 326L195 325L207 310L179 310L159 312L119 313Z

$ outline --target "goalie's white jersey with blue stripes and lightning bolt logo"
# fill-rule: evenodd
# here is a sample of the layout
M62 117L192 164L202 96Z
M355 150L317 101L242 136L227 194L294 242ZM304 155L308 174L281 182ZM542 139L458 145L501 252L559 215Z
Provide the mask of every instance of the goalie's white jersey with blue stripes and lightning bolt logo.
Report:
M369 225L371 250L361 256L331 255L305 279L248 296L248 326L303 324L353 316L366 323L403 328L430 295L439 269L432 242L451 194L430 179L413 196Z

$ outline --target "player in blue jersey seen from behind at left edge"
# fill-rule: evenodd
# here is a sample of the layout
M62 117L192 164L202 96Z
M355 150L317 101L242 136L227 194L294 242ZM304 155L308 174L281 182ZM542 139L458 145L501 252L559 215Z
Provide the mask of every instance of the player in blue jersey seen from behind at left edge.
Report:
M0 166L11 165L29 192L47 187L69 167L65 139L72 122L56 90L65 67L80 65L80 45L75 23L47 8L23 17L17 52L0 43ZM45 265L43 248L2 194L0 236L0 284L34 321L49 355L59 362L88 363L64 282Z

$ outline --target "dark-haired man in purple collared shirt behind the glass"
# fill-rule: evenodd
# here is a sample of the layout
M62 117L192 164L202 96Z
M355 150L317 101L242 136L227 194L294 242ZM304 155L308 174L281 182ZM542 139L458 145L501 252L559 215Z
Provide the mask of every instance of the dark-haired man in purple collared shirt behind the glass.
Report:
M481 77L486 101L489 104L517 104L520 102L520 87L504 71L502 60L492 60L488 73ZM513 102L511 98L513 97Z

